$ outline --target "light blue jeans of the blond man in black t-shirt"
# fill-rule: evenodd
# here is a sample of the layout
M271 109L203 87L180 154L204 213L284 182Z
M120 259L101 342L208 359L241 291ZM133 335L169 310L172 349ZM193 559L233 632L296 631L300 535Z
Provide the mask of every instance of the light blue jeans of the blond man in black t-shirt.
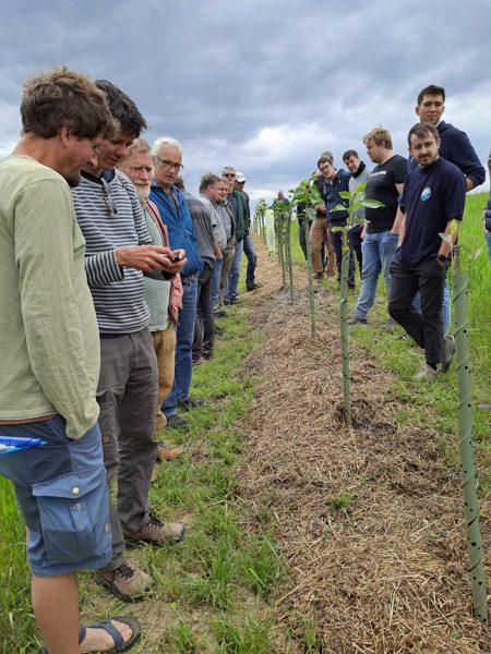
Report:
M361 278L360 295L354 315L357 318L367 318L372 308L376 294L376 282L381 271L385 278L387 294L391 290L391 274L388 271L394 261L398 237L390 231L364 234L361 244L363 257L363 271Z

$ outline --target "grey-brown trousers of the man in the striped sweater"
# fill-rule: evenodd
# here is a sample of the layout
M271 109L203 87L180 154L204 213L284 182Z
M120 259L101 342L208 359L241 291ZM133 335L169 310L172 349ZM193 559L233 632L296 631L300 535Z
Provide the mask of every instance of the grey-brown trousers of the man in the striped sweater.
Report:
M158 371L148 329L100 339L97 402L108 485L117 477L118 508L110 504L113 570L123 561L121 522L139 530L148 522L155 465Z

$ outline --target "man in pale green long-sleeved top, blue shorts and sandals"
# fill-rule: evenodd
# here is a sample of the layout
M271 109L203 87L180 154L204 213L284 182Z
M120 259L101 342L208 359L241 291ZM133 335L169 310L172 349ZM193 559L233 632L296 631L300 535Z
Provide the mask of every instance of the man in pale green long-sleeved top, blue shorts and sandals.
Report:
M49 654L127 649L131 618L79 626L76 572L111 557L99 409L99 338L85 243L69 186L94 165L111 117L65 68L24 85L23 136L0 164L0 436L44 445L2 453L27 524L34 613ZM8 307L8 311L5 310Z

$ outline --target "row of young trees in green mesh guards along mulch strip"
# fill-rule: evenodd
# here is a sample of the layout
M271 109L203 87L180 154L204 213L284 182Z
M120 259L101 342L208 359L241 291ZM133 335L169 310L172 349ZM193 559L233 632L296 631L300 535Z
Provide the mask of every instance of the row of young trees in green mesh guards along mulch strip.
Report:
M283 275L283 288L289 286L290 302L294 304L294 262L291 257L291 219L292 209L299 204L304 208L306 220L306 250L307 250L307 278L309 288L309 313L312 338L316 337L316 310L315 291L312 272L312 257L308 221L315 218L315 206L323 204L323 198L318 186L313 183L314 175L303 180L296 189L291 190L291 203L275 201L271 207L265 199L260 199L254 213L254 228L266 240L266 211L273 209L275 247L279 258ZM360 207L376 208L382 203L364 197L366 184L360 184L352 192L339 193L343 205L335 209L347 210L346 227L335 227L334 230L343 232L343 258L339 284L339 332L342 349L342 373L343 373L343 414L346 425L356 428L351 407L351 377L349 372L349 326L348 326L348 266L349 266L349 228L364 218L357 216ZM456 226L455 226L456 229ZM452 234L440 234L442 239L453 242ZM469 572L472 586L472 608L475 617L482 623L488 625L487 582L481 546L481 531L479 524L479 505L476 491L476 468L472 446L472 388L470 377L470 358L468 341L468 274L462 269L460 249L463 245L454 245L452 249L452 278L453 278L453 305L455 315L455 354L457 370L458 389L458 429L459 429L459 456L462 472L462 489L464 495L465 518L467 528L467 547L469 554ZM479 252L469 253L472 261Z

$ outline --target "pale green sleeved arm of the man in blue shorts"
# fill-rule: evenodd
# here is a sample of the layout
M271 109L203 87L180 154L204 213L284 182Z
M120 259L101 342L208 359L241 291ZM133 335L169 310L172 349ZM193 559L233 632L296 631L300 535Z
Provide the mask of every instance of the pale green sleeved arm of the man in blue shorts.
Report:
M67 435L82 437L97 420L93 371L86 365L81 308L93 312L81 283L83 237L70 192L61 180L25 187L16 198L14 254L31 367L55 410L67 421ZM80 261L76 259L80 257ZM74 263L80 269L74 269ZM91 319L84 315L85 324ZM97 324L94 314L94 331Z

